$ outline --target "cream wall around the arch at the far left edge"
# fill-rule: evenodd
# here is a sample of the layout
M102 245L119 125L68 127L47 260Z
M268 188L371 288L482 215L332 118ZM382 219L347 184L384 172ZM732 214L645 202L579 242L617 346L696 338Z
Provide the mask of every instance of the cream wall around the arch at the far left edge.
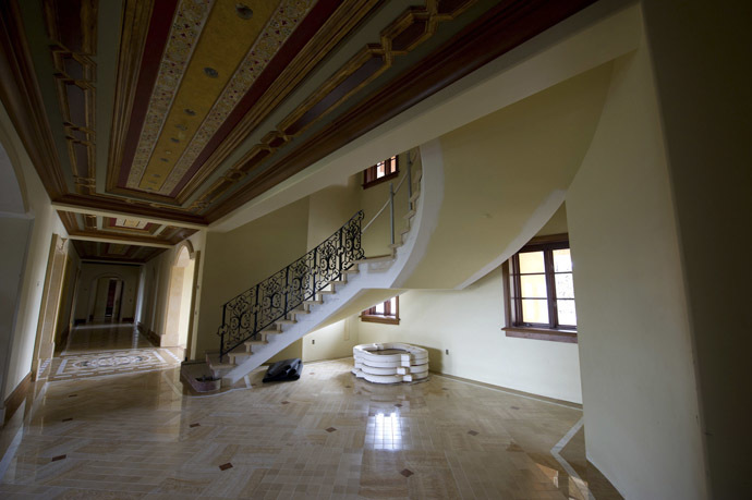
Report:
M19 291L10 358L5 368L3 393L10 394L32 369L39 306L52 234L68 237L68 232L58 214L50 206L49 196L2 105L0 105L0 143L8 153L16 175L21 174L23 178L19 179L19 184L24 192L28 216L34 218L23 270L23 284ZM66 248L69 244L70 242L65 243Z

